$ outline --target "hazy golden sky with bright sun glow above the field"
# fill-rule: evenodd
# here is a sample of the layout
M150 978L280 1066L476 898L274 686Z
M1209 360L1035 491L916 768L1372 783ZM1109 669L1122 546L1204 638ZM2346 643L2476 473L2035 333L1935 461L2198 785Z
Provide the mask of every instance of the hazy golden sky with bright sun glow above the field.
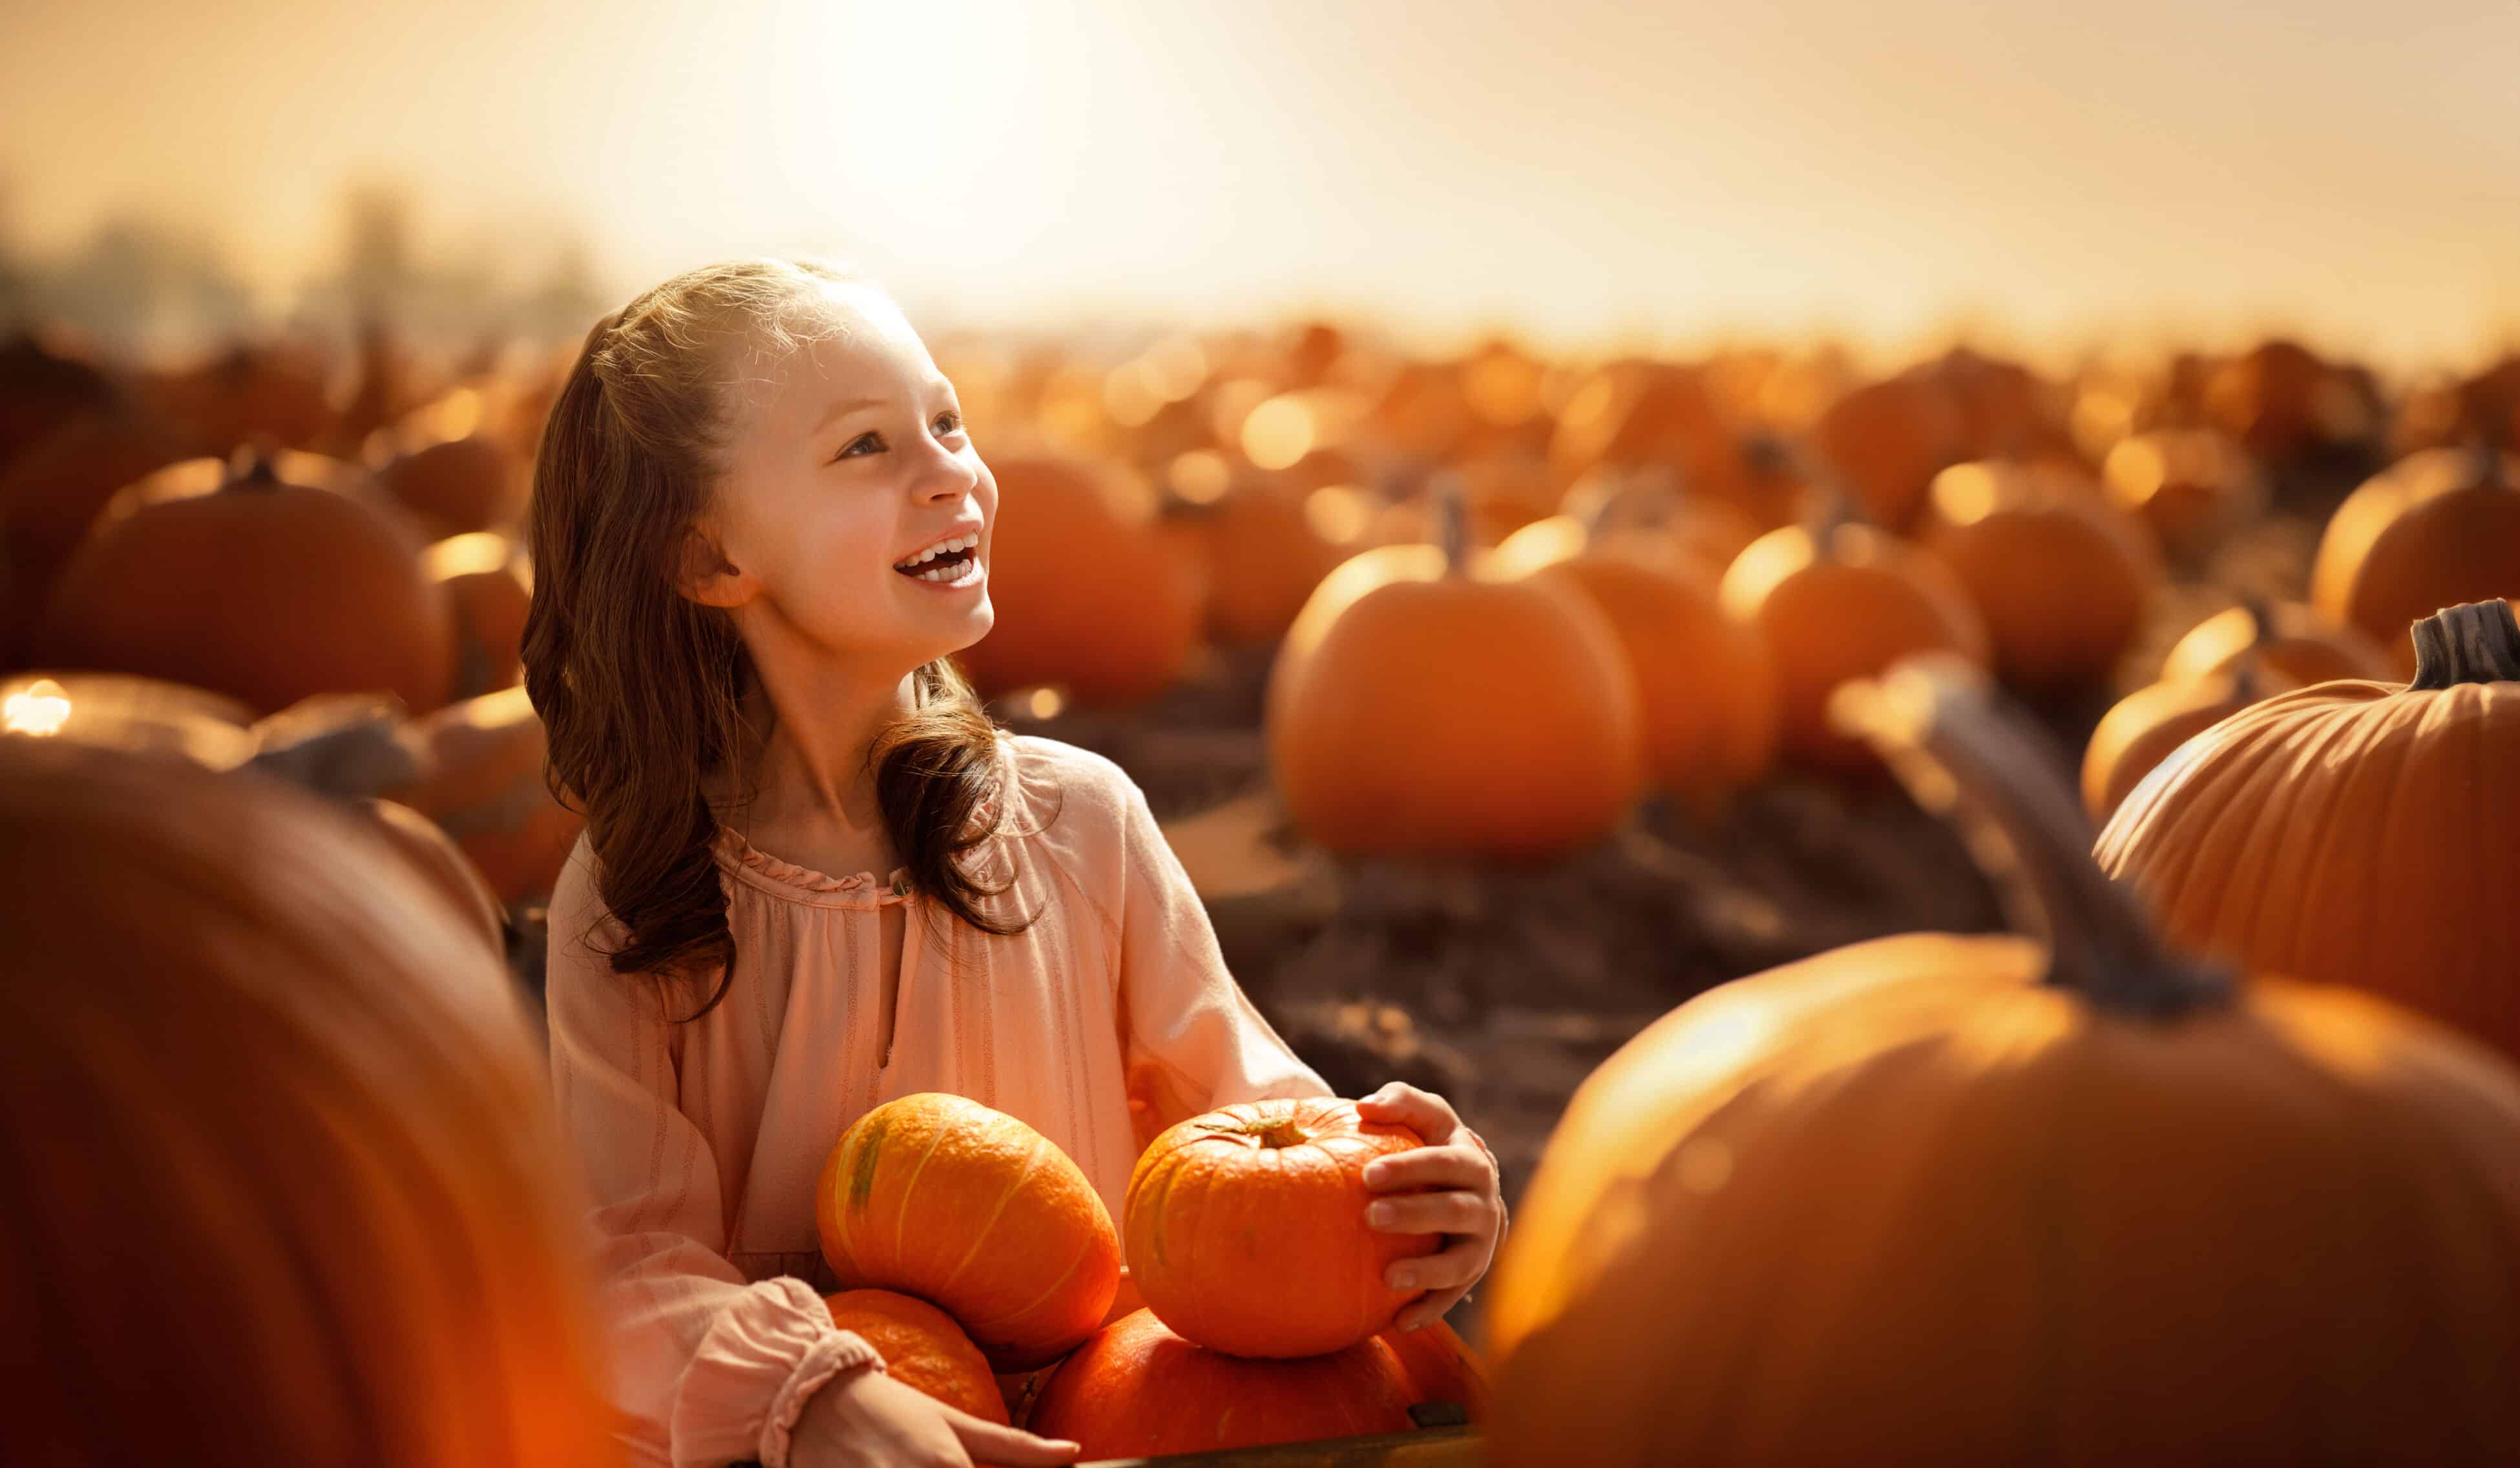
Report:
M852 257L922 320L1426 345L2520 337L2515 0L0 0L0 209L272 300L340 189L519 277Z

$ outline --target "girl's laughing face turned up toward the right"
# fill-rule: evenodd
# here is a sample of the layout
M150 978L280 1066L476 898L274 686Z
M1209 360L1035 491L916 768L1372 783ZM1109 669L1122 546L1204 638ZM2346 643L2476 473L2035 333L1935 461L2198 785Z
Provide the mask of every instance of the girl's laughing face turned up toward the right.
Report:
M988 635L998 481L900 307L862 285L822 297L837 332L766 373L733 363L731 438L701 521L721 564L688 594L736 609L748 635L784 624L910 670Z

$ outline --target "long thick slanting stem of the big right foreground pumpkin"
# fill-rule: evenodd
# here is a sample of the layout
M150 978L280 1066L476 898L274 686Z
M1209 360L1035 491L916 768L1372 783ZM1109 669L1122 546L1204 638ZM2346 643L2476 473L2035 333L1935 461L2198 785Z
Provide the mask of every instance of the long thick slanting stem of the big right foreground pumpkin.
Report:
M2230 997L2230 974L2162 944L2132 886L2092 861L2092 823L2039 733L1973 667L1908 657L1830 700L1918 806L1956 813L2013 927L2049 944L2046 982L2122 1012L2170 1017Z

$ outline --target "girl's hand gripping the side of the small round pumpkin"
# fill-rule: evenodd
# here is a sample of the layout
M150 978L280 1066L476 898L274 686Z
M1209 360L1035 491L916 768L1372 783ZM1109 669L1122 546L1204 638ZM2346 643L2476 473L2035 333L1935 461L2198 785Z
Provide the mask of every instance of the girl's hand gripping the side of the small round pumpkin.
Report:
M1383 1234L1444 1234L1446 1244L1419 1259L1399 1259L1383 1274L1391 1289L1424 1289L1401 1309L1401 1330L1444 1319L1444 1312L1469 1294L1487 1274L1504 1236L1504 1189L1497 1158L1479 1133L1462 1126L1452 1103L1416 1085L1394 1080L1356 1103L1366 1121L1406 1126L1426 1143L1366 1163L1366 1186L1376 1194L1401 1189L1444 1189L1404 1199L1378 1199L1366 1206L1366 1226Z

